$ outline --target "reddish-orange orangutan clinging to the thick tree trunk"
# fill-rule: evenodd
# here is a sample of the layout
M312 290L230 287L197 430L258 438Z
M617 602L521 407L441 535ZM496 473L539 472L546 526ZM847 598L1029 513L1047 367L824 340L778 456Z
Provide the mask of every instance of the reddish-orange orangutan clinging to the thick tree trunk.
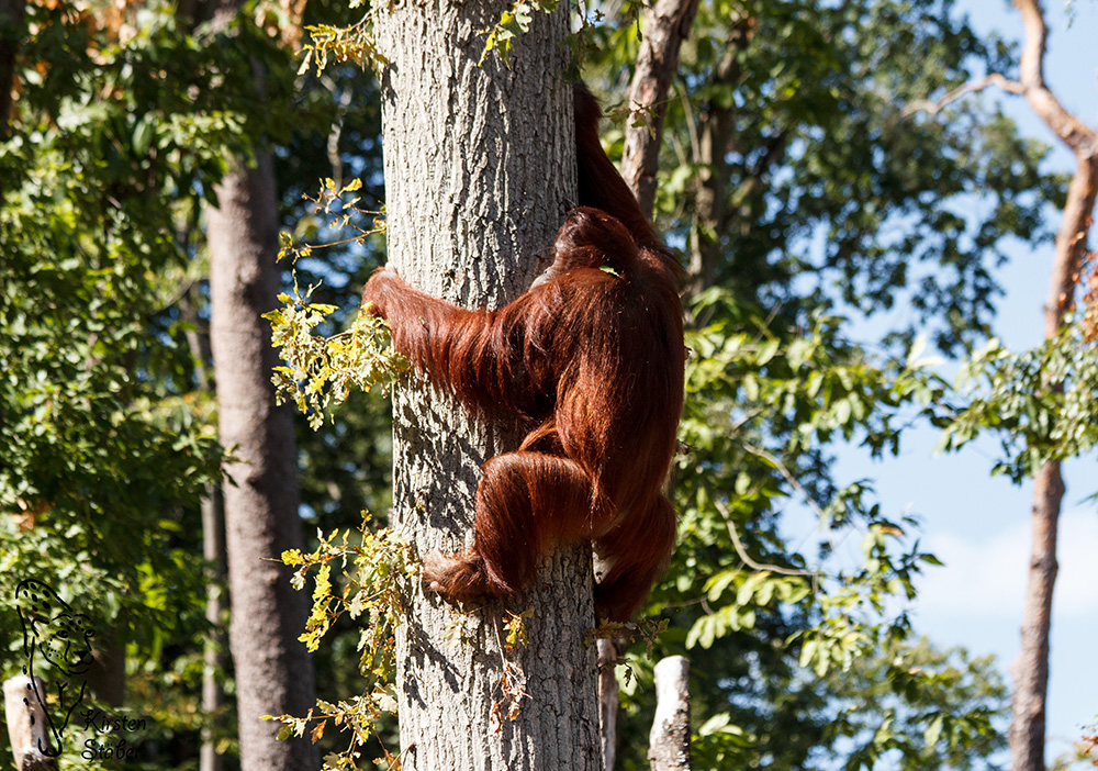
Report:
M484 463L475 541L428 555L427 585L451 600L515 595L551 549L590 539L608 565L596 611L627 621L674 548L663 485L683 404L681 269L603 153L594 98L581 87L575 102L584 205L529 291L466 310L383 269L362 300L414 367L526 432Z

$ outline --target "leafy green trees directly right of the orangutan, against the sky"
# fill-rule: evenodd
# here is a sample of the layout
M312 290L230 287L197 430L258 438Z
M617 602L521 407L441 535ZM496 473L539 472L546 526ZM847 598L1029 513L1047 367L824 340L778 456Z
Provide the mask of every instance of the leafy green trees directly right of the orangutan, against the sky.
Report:
M605 72L602 82L616 93L632 77L632 29L629 16L618 26L612 14L593 31L595 71ZM894 451L897 429L914 414L907 400L930 395L923 386L895 381L897 370L872 344L850 340L844 320L827 314L906 305L888 317L898 324L875 324L885 342L903 349L915 326L930 326L941 347L961 349L988 328L997 291L990 266L1000 244L1046 233L1032 202L1055 200L1057 188L1038 172L1040 147L979 105L954 109L933 126L906 111L930 82L950 90L967 82L971 69L1006 62L1005 49L979 41L951 2L703 3L697 11L666 105L666 172L657 208L661 223L688 246L695 290L721 292L703 294L698 317L710 323L690 343L697 355L683 431L691 452L676 483L684 562L676 560L668 594L653 607L677 607L665 611L673 626L662 650L681 652L674 629L693 629L679 639L691 649L694 672L713 671L699 646L722 651L719 666L741 660L750 667L739 677L692 683L696 714L729 711L724 729L698 737L703 750L733 739L750 757L788 768L825 764L828 752L844 751L822 725L813 727L821 715L813 705L840 694L786 683L796 681L804 659L797 629L818 624L820 607L859 571L843 571L838 585L804 595L786 586L782 595L777 577L770 571L770 580L758 580L766 571L759 576L750 561L826 568L847 527L881 517L867 483L844 488L833 478L828 448L859 437L873 454ZM651 125L643 114L631 120L641 132ZM966 195L988 199L986 220L966 223L952 213L954 197ZM811 547L791 550L778 529L791 498L807 501L829 523L816 555ZM714 500L724 501L728 522ZM717 571L699 584L712 558ZM717 592L719 566L737 563L742 572ZM903 565L894 567L904 571ZM752 573L758 578L749 580ZM768 584L772 589L755 593ZM699 595L705 585L712 589ZM806 600L787 602L796 596ZM903 615L896 621L906 625ZM797 641L785 645L789 636ZM768 681L781 683L781 699ZM621 760L634 768L643 762L636 748L647 720L635 723L639 705L631 696L626 705L621 741L629 749ZM984 745L979 755L990 748Z

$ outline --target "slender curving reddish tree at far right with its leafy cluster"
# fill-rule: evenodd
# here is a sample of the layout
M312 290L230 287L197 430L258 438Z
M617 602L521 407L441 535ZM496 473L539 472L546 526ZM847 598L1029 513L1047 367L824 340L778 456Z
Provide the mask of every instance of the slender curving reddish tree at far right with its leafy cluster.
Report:
M1044 76L1047 27L1040 2L1016 0L1024 25L1017 80L995 71L943 97L937 111L971 91L996 85L1026 97L1049 128L1072 150L1076 169L1062 204L1055 253L1044 304L1043 347L1010 356L997 345L973 357L966 377L981 381L968 404L946 425L951 447L979 431L1001 435L1006 457L997 471L1016 481L1033 478L1029 582L1021 628L1021 652L1011 666L1010 753L1015 771L1045 768L1045 716L1049 690L1049 638L1056 580L1056 540L1064 480L1061 461L1090 449L1096 405L1090 391L1095 371L1095 277L1088 265L1090 227L1098 198L1098 135L1061 104ZM1087 288L1079 295L1080 286ZM1076 302L1085 309L1074 314ZM1074 324L1073 324L1074 322ZM1019 395L1021 396L1019 398Z

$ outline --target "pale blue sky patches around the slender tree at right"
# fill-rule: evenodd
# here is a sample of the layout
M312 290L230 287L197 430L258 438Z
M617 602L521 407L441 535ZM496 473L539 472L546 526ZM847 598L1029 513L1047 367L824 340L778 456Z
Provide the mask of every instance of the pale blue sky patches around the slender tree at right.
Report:
M1071 26L1064 0L1046 0L1050 38L1046 78L1064 105L1089 125L1098 120L1098 2L1075 0ZM1020 41L1021 22L1006 0L959 0L982 32ZM1069 171L1074 160L1019 97L1004 104L1022 132L1057 145L1051 166ZM1054 214L1054 213L1053 213ZM1058 220L1052 222L1053 227ZM1001 273L1006 289L998 334L1012 348L1041 336L1041 308L1052 262L1052 247L1017 247ZM915 619L919 632L943 646L963 646L973 655L995 653L1004 673L1019 650L1019 625L1029 555L1032 485L1015 487L989 471L994 445L948 457L932 456L937 434L912 433L900 457L866 465L844 454L840 478L876 482L882 509L904 511L923 521L922 543L946 565L930 568L920 583ZM1078 740L1098 714L1098 505L1085 499L1098 492L1095 458L1065 467L1060 536L1060 576L1054 600L1049 750L1053 760ZM1079 768L1093 768L1082 764Z

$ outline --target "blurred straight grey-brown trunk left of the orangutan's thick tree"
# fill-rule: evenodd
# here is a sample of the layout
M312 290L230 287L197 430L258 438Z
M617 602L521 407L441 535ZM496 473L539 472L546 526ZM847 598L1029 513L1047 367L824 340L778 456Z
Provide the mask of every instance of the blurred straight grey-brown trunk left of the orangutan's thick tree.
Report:
M274 305L278 202L270 156L237 168L217 186L208 212L211 344L221 442L232 452L224 485L232 594L229 647L236 667L240 768L287 771L318 764L307 738L278 741L264 715L304 715L314 704L313 664L298 636L306 597L278 561L301 548L296 451L289 405L274 406L277 364L270 325Z

